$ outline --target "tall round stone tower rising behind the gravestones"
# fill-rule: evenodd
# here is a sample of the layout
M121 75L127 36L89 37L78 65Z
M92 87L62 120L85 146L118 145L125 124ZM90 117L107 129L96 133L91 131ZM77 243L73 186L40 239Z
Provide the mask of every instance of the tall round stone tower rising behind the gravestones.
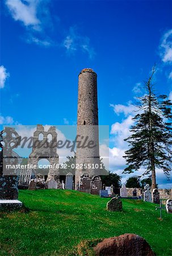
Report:
M83 174L94 176L99 171L94 168L95 164L99 164L97 74L90 68L82 69L78 76L77 135L78 140L83 138L83 142L88 138L87 143L92 141L94 146L77 147L75 189L79 188ZM82 164L86 168L82 168Z

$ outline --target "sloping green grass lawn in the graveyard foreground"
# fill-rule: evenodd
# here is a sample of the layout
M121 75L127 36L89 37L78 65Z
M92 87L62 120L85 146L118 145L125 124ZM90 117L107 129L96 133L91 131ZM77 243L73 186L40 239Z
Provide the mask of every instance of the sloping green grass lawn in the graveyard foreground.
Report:
M140 200L123 199L123 212L108 212L109 199L77 191L19 192L30 212L0 213L1 255L77 255L82 240L135 233L157 255L171 255L172 214Z

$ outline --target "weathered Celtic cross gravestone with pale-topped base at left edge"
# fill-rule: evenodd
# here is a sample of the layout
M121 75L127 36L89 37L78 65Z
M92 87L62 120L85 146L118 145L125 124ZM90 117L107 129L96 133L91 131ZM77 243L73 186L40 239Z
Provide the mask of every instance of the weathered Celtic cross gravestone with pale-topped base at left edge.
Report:
M5 127L0 134L0 209L18 209L22 202L18 200L18 170L16 165L21 158L14 148L20 144L21 137L14 128ZM2 144L3 142L3 144ZM15 168L10 168L14 166Z

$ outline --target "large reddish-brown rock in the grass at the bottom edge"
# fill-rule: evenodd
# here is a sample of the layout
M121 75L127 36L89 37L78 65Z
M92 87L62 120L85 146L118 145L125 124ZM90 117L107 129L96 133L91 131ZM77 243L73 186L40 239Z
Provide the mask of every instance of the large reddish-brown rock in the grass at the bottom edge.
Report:
M119 237L106 238L93 248L99 256L153 256L148 242L136 234L123 234Z

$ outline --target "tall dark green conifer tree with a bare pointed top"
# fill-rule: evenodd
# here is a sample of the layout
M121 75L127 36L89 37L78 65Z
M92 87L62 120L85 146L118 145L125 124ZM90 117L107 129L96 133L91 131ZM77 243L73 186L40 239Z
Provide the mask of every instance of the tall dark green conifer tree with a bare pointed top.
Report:
M131 135L124 139L129 143L125 151L128 167L124 173L145 168L145 174L152 178L152 188L156 188L156 168L162 170L167 177L171 170L172 145L172 113L171 101L166 95L157 96L154 93L153 75L156 69L145 81L146 94L139 97L137 114L133 118L135 124L131 127Z

